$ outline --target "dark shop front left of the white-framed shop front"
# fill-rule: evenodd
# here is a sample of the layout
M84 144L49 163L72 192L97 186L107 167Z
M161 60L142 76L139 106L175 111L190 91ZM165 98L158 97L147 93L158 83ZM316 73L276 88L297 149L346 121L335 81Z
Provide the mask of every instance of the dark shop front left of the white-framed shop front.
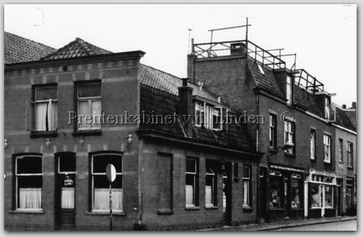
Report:
M270 221L304 218L304 169L271 164L268 212Z

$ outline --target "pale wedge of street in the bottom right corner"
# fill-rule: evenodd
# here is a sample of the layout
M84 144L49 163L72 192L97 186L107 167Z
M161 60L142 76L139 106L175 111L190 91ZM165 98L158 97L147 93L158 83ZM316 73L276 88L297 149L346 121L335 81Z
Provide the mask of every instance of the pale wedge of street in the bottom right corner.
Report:
M277 231L357 231L357 220L278 229Z

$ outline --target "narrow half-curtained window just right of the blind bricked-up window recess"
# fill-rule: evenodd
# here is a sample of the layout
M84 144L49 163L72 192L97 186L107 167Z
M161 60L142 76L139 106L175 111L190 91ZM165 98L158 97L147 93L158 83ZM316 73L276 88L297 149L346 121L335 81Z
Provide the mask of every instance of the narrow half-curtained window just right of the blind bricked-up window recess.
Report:
M198 205L198 167L197 159L187 158L185 169L185 206L195 207Z

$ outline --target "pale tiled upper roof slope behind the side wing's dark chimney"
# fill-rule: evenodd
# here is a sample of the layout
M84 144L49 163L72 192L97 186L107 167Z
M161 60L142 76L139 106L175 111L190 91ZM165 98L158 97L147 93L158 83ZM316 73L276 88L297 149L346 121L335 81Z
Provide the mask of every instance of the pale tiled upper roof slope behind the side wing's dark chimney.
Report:
M183 81L175 75L165 73L164 71L143 64L140 64L140 78L142 84L168 92L172 95L178 95L178 87L181 87L183 84ZM197 95L214 102L217 101L216 95L213 95L204 89L201 90L199 86L192 83L188 83L188 86L193 88L192 95Z

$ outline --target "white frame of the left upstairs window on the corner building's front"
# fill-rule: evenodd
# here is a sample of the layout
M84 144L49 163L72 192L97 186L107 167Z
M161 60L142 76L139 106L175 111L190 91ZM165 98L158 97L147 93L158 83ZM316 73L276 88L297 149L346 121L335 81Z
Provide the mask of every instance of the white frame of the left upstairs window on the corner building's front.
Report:
M47 89L47 88L56 88L56 97L57 99L37 99L37 90L42 90L42 89ZM37 121L38 121L38 118L37 118L37 105L38 104L44 104L44 103L47 103L48 104L48 111L47 111L47 114L48 114L48 117L52 115L52 111L54 109L54 107L56 107L56 109L58 110L58 86L56 85L51 85L51 86L47 86L47 87L35 87L35 107L34 107L34 129L37 130L37 131L51 131L51 130L56 130L57 126L58 126L58 118L57 118L57 114L55 114L55 118L51 118L51 122L52 124L49 125L49 130L38 130L37 128ZM54 104L54 106L52 105Z

